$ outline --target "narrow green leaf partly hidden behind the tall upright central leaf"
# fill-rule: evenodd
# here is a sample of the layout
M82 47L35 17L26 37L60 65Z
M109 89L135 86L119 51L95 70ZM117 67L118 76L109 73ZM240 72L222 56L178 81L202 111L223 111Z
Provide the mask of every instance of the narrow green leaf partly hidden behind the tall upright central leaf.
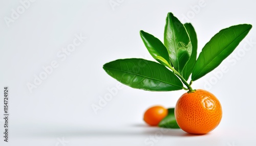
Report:
M194 66L195 66L196 60L197 60L197 33L196 33L194 27L191 25L191 23L185 23L184 26L187 30L187 33L190 37L190 41L193 46L191 57L188 60L187 64L185 65L185 67L182 71L182 76L187 81L190 74L192 73L192 71L194 69Z

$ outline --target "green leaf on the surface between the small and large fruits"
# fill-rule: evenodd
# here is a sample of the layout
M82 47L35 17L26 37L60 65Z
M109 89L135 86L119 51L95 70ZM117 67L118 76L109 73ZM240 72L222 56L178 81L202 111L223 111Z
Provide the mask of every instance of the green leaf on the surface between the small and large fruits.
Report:
M158 126L163 128L175 128L175 129L180 128L179 125L177 124L177 121L174 115L174 108L168 109L168 115L160 121Z

